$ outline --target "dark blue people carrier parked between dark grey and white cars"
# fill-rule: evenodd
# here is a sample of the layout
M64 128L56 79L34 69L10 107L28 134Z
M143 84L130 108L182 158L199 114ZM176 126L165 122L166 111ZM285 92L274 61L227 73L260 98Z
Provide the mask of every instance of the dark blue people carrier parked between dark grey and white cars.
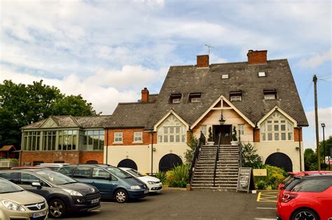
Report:
M95 186L102 198L114 198L118 203L148 195L148 186L144 182L110 165L69 165L60 168L59 172Z

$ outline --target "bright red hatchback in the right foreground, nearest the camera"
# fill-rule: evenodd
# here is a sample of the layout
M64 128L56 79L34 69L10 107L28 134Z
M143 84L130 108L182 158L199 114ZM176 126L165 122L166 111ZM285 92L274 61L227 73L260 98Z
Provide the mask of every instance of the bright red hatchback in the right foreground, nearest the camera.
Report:
M331 173L294 176L277 201L277 219L330 219L331 207Z

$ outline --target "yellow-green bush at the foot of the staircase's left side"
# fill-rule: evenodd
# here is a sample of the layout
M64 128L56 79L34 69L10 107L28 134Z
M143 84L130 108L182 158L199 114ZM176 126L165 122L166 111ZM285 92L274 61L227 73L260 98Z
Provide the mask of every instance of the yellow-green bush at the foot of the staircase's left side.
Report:
M166 172L167 183L171 187L186 187L189 180L189 166L181 164Z

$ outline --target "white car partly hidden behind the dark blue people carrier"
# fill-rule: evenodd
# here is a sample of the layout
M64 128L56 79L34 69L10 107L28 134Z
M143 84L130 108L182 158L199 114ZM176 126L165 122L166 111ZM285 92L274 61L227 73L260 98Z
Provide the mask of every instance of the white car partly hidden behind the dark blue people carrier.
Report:
M121 170L124 170L125 172L129 173L133 177L136 177L137 179L141 180L141 182L144 182L148 186L148 190L151 193L156 193L159 191L162 191L162 183L160 179L143 175L139 173L137 170L134 170L132 168L120 168Z

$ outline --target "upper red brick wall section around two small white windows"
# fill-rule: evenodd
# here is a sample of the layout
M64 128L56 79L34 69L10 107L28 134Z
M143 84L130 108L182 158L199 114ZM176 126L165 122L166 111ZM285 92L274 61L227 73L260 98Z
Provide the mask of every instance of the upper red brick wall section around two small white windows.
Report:
M142 132L143 143L133 143L134 142L134 132ZM114 144L114 133L123 133L123 144ZM148 145L151 144L151 132L143 131L143 129L107 129L105 134L105 140L107 140L107 145ZM157 142L157 133L153 133L153 143Z

